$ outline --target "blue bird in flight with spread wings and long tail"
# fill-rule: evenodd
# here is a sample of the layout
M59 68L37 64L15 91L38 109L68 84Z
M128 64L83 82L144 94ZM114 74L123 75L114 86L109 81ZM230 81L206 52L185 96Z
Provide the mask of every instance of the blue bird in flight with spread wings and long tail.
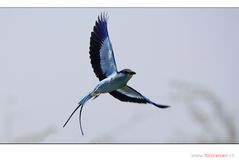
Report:
M87 93L79 102L76 109L72 112L63 127L66 126L73 114L80 108L79 123L82 135L83 129L81 125L81 112L84 104L90 100L97 98L102 93L109 93L113 97L123 102L134 103L149 103L158 108L167 108L167 105L156 104L132 87L128 86L128 81L136 73L130 69L117 70L113 48L110 42L108 29L107 29L107 16L102 14L98 16L95 22L93 31L90 37L90 59L91 65L95 75L99 78L100 82L95 88Z

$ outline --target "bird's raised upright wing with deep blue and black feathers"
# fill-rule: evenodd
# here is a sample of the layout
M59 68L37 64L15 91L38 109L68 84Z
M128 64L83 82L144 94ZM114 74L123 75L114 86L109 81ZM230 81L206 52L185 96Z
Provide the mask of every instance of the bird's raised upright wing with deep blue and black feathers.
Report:
M95 22L90 37L89 53L91 65L100 81L117 72L114 52L108 35L106 14L98 16Z

